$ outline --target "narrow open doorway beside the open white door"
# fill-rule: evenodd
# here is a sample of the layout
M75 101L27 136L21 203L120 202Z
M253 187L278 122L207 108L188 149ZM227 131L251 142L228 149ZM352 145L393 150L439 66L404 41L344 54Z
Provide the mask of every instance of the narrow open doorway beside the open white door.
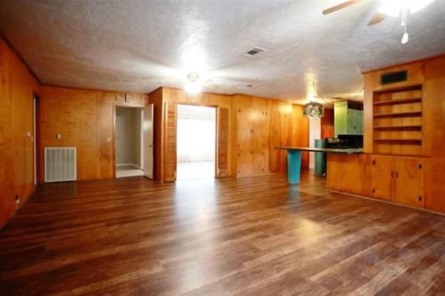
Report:
M143 108L116 106L116 178L143 176Z

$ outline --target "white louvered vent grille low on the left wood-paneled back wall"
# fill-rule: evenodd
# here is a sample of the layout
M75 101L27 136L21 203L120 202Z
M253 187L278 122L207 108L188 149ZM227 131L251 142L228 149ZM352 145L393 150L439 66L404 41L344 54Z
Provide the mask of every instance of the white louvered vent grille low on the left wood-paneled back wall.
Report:
M76 147L44 148L44 181L76 181Z

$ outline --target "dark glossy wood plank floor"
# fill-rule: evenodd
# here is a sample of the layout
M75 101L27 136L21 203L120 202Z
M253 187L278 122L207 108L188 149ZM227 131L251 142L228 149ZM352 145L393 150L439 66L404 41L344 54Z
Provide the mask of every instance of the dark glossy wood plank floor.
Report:
M0 293L444 295L445 217L307 173L46 184L0 231Z

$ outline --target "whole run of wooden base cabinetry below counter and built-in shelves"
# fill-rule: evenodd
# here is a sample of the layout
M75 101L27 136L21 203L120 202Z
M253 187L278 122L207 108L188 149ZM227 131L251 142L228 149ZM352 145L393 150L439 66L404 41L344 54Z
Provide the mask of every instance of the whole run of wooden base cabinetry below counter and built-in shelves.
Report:
M328 154L329 190L423 208L426 158Z

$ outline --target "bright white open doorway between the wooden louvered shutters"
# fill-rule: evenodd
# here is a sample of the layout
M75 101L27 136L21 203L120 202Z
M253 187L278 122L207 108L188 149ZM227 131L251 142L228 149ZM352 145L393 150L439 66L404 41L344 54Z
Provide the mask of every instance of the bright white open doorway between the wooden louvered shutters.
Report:
M177 180L215 178L216 108L177 106Z

